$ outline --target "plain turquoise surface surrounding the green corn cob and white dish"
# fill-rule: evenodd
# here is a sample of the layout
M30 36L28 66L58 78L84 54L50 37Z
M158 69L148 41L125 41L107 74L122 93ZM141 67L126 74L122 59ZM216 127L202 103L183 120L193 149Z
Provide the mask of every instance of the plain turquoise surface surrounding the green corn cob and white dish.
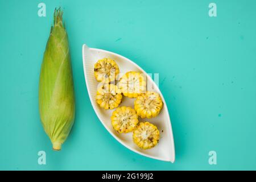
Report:
M46 17L38 4L46 3ZM217 4L210 18L208 5ZM55 7L64 8L76 120L52 151L38 111L40 64ZM256 1L0 0L0 169L256 169ZM176 161L135 154L102 126L90 105L82 44L159 73ZM44 150L47 164L38 164ZM217 152L209 165L208 152Z

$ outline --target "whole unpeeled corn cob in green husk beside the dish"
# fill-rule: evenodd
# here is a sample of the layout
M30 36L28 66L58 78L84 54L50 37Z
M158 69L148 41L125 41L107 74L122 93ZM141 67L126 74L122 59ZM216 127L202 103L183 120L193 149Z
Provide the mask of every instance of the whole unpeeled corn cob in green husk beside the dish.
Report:
M63 11L55 9L39 82L39 111L53 150L60 150L75 118L75 93Z

